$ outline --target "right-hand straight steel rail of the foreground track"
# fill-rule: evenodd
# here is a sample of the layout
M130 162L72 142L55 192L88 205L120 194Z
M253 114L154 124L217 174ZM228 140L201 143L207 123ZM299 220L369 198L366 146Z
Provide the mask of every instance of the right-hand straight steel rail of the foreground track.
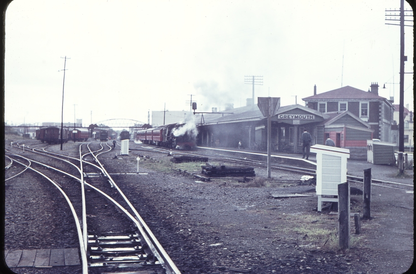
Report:
M101 162L98 160L98 155L111 151L111 147L106 143L106 145L110 148L110 150L103 151L98 153L97 155L94 155L95 160L97 163L101 166L103 171L105 172L106 177L110 180L110 182L114 185L114 187L117 189L119 194L123 197L124 201L128 204L129 208L133 211L134 215L136 216L136 219L140 223L140 226L144 228L144 232L149 236L149 239L152 241L152 243L148 243L149 247L155 247L156 250L153 250L154 255L158 258L158 260L163 264L165 267L168 267L168 270L171 271L171 273L181 273L175 263L170 259L169 255L166 253L166 251L163 249L162 245L159 243L158 239L155 237L153 232L150 230L150 228L147 226L146 222L142 219L140 214L136 211L136 209L133 207L131 202L128 200L128 198L124 195L123 191L117 186L117 184L113 181L110 174L107 173L107 170L102 166ZM151 245L150 245L151 244Z

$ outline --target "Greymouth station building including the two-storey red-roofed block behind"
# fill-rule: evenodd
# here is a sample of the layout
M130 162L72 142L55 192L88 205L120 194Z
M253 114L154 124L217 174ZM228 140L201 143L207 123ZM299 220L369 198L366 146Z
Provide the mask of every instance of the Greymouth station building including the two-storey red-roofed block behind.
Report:
M305 105L280 107L271 119L274 152L302 153L301 134L306 129L313 144L331 138L336 147L350 150L352 159L366 159L367 140L391 142L394 107L378 95L378 85L368 92L350 86L303 98ZM267 118L257 105L203 114L198 124L198 146L267 150Z

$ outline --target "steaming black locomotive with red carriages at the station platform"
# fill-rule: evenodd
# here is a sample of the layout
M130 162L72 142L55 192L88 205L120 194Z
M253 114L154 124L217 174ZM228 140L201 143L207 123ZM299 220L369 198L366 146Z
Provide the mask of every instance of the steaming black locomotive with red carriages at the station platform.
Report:
M144 144L151 144L170 149L196 149L196 128L183 124L170 124L154 128L137 130L135 139Z

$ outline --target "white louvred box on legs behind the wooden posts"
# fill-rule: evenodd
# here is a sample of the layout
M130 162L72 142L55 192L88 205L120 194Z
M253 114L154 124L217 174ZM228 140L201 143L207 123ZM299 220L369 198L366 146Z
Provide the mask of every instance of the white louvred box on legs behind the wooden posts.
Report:
M323 201L338 202L338 184L346 182L346 159L350 158L350 150L314 145L310 147L310 152L317 154L316 192L318 211L321 211Z

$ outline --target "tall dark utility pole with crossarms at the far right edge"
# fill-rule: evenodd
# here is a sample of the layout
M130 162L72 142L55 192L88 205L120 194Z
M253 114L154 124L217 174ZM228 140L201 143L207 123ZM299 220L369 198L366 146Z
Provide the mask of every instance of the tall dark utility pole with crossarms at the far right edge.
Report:
M387 12L390 12L388 15ZM393 14L391 14L393 12ZM399 12L399 15L397 15ZM407 11L406 14L404 11L404 0L400 0L400 10L386 10L386 16L389 16L389 19L386 18L386 21L399 21L400 26L400 102L399 102L399 154L397 163L399 165L399 174L403 174L404 164L403 164L403 152L404 152L404 62L407 61L407 56L404 55L404 17L413 17L412 11ZM399 16L399 19L392 19L392 16ZM386 25L398 25L392 23L386 23Z

